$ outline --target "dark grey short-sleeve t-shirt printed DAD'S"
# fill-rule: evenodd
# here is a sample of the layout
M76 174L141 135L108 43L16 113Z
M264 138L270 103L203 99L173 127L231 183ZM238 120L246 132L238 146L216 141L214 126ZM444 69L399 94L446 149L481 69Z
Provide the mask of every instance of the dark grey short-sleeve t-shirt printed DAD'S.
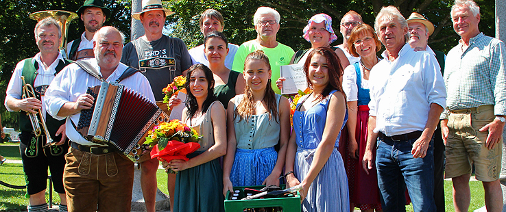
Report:
M162 35L162 38L148 42L144 37L137 38L144 49L145 58L151 57L173 57L176 59L176 72L171 74L169 68L147 68L144 72L145 77L151 85L156 101L162 101L165 94L162 89L167 87L173 81L173 77L182 75L182 72L191 67L191 57L186 49L186 45L179 38L171 38ZM133 41L132 41L133 42ZM121 62L127 66L139 68L137 51L134 44L129 42L123 48ZM171 45L172 43L172 45Z

